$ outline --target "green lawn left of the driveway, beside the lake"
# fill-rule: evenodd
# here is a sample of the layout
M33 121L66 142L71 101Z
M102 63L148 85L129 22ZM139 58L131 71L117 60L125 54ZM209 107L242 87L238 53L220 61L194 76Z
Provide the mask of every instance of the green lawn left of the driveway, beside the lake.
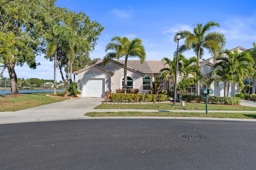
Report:
M47 97L47 94L50 93L27 93L21 94L22 96L19 97L0 98L0 101L6 101L6 103L0 102L0 111L17 111L68 99ZM2 94L1 96L7 96L7 94Z

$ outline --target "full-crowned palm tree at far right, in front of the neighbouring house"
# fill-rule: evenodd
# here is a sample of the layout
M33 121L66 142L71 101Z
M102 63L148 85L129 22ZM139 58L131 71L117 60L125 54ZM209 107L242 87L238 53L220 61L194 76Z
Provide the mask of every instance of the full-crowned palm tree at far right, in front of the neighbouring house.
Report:
M228 82L228 94L233 82L237 82L240 90L242 90L244 87L244 79L249 78L254 73L254 60L248 51L238 53L237 49L234 51L226 49L224 53L216 57L214 61L215 68L210 74L208 84L214 81L214 85L219 87L218 83L223 81L224 97L226 97L226 82Z

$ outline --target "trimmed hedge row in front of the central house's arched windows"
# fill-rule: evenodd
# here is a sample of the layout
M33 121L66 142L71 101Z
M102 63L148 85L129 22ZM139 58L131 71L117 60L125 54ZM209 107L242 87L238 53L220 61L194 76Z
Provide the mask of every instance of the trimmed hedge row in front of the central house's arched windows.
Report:
M139 101L146 101L146 102L164 102L167 100L167 95L165 94L148 94L144 96L143 94L124 94L124 93L115 93L112 94L108 100L110 102L139 102Z

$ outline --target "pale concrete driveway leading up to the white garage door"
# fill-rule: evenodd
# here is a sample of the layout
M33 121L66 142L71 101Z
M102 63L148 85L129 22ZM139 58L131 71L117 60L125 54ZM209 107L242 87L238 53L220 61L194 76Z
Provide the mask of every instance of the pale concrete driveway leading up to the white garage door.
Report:
M72 98L19 111L0 112L0 124L84 119L104 98Z

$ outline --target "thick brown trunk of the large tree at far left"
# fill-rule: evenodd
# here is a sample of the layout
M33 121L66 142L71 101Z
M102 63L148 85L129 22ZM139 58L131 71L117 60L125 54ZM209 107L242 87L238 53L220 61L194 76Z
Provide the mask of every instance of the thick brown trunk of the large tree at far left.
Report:
M11 82L11 93L10 95L18 95L18 84L17 84L17 75L14 70L15 63L7 64L9 76L10 76L10 82Z

